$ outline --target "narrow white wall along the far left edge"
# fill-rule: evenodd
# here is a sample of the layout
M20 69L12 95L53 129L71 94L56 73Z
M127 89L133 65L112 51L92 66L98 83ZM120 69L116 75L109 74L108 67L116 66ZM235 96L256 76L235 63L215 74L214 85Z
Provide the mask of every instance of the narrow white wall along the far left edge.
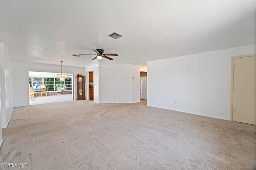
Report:
M12 61L4 43L0 43L1 127L8 125L13 109Z

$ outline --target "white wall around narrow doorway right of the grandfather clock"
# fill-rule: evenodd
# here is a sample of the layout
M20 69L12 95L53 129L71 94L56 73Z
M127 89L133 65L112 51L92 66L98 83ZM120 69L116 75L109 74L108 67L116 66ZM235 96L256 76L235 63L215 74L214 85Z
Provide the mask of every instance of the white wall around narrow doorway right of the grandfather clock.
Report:
M99 103L99 65L94 65L85 68L84 76L85 76L85 89L86 89L86 100L89 99L89 72L93 71L93 100L96 103Z

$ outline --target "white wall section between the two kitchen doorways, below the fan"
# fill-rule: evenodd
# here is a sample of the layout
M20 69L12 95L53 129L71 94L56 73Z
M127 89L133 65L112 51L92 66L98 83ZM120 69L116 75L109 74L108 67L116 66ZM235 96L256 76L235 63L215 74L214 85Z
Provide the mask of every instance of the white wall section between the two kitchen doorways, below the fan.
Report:
M100 103L140 102L140 71L143 66L106 64L99 67Z

